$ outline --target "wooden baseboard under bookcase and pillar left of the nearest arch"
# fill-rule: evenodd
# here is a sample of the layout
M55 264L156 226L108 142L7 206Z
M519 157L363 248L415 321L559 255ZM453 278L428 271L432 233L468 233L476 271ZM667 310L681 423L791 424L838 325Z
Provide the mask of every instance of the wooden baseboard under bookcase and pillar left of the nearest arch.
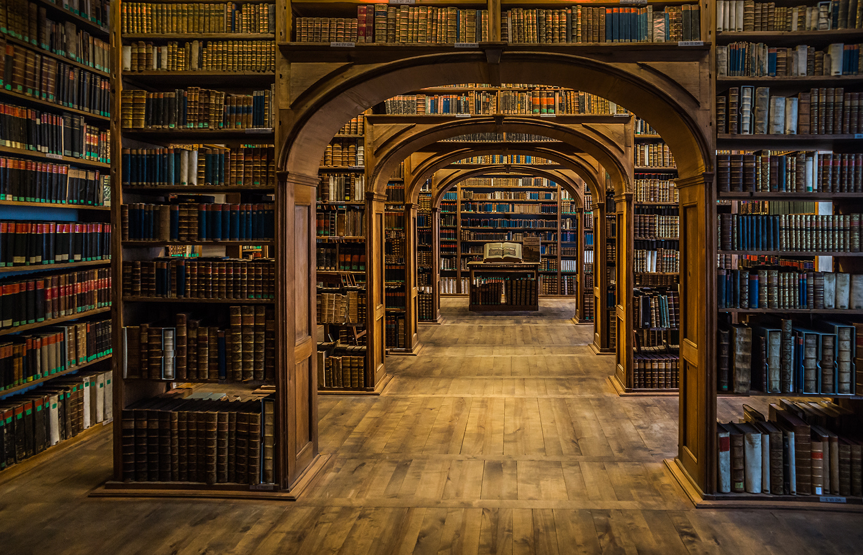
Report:
M263 490L268 484L249 486L242 483L167 483L116 482L109 480L88 494L91 497L196 497L206 499L254 499L255 501L297 501L331 455L318 455L293 484L291 490ZM275 486L273 486L275 487ZM259 488L252 490L252 488Z

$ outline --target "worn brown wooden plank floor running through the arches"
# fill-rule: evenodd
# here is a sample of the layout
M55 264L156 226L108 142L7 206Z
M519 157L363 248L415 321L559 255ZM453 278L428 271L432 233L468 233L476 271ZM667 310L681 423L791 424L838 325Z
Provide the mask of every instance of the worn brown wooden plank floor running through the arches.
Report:
M88 498L110 476L100 433L0 483L0 554L863 551L860 514L694 509L662 462L677 399L614 395L571 305L466 303L444 299L419 357L387 359L383 395L319 397L331 459L299 502Z

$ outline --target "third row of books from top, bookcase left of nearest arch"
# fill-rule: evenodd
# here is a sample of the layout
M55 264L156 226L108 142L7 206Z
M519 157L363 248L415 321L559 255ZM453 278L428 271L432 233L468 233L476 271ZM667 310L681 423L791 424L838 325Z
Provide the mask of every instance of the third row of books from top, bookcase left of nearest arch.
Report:
M272 87L250 95L200 87L168 92L128 89L120 94L120 122L126 129L273 127Z

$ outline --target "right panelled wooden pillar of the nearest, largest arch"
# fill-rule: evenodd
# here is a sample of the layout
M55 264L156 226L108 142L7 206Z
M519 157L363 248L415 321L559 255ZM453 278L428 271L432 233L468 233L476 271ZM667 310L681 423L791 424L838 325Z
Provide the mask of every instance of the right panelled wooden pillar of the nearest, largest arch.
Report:
M680 425L677 465L709 494L716 483L714 175L677 180L680 191Z

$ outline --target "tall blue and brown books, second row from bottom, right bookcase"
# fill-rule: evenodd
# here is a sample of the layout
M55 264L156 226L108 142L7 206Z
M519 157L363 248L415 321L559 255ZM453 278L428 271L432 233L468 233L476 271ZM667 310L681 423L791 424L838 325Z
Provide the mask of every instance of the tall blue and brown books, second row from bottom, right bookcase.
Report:
M720 391L860 394L855 381L856 328L827 320L766 318L721 326L717 360ZM863 340L863 337L860 338Z

